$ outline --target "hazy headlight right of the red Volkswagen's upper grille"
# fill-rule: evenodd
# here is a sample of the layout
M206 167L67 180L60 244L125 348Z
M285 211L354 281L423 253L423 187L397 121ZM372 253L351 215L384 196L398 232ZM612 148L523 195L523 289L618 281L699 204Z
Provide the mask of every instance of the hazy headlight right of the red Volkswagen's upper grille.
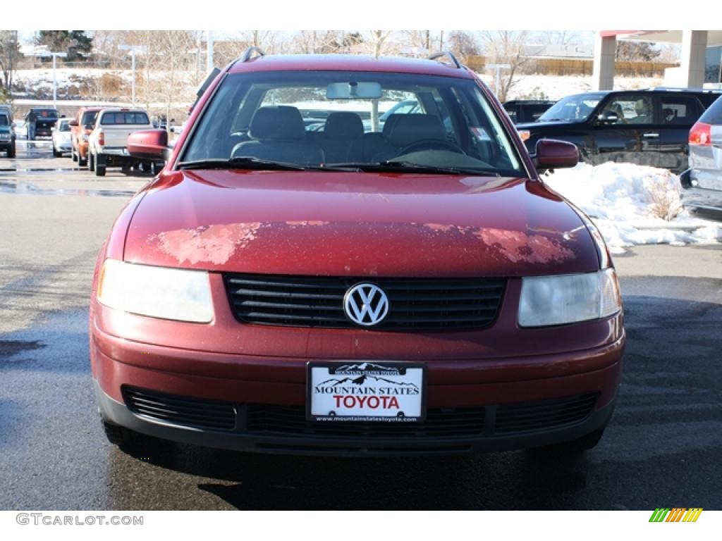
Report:
M596 273L523 278L519 302L521 327L544 327L597 320L619 312L617 274Z

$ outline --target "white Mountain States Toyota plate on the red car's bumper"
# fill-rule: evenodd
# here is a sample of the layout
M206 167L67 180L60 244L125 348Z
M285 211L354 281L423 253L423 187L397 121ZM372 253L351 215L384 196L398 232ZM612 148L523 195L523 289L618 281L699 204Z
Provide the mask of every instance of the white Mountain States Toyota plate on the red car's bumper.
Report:
M409 423L425 418L426 369L393 362L308 363L310 421Z

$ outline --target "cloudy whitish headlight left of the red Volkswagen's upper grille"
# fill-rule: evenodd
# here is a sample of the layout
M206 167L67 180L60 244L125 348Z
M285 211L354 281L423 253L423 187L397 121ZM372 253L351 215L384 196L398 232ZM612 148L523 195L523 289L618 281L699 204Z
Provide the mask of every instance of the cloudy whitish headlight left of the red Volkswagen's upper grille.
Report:
M110 308L164 320L208 323L213 319L211 286L205 271L108 259L100 271L97 299Z

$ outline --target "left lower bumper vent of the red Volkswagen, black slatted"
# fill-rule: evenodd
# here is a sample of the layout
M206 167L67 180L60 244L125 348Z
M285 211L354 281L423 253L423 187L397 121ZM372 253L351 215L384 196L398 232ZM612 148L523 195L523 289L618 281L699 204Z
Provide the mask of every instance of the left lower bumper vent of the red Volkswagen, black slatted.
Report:
M123 387L123 399L132 412L159 421L212 430L235 428L235 405L227 402L166 395Z

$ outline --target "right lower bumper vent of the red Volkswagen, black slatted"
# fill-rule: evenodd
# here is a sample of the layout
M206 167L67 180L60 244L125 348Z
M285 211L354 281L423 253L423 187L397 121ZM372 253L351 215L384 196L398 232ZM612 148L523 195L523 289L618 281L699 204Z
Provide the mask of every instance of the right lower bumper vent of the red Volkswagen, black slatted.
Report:
M495 432L510 434L542 430L585 419L593 410L596 393L523 404L506 404L497 408Z

